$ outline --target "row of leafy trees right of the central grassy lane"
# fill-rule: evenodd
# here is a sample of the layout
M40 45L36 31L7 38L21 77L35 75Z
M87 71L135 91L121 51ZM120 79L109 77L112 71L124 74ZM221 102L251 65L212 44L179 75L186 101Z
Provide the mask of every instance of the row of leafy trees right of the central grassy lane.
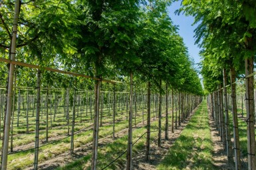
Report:
M219 99L218 95L222 96L223 88L224 99L221 101L225 103L225 124L228 124L226 85L231 83L235 169L241 169L235 81L245 78L248 167L256 169L254 78L251 76L256 54L256 1L184 0L182 4L183 7L178 13L184 11L186 15L193 15L195 23L199 23L195 29L195 37L196 42L203 48L201 50L203 58L201 73L204 87L211 93L211 100ZM230 76L229 79L227 79L228 76ZM217 90L219 92L213 93ZM228 128L226 128L226 133L227 138L223 136L223 139L230 147ZM229 147L226 149L229 162L231 162Z

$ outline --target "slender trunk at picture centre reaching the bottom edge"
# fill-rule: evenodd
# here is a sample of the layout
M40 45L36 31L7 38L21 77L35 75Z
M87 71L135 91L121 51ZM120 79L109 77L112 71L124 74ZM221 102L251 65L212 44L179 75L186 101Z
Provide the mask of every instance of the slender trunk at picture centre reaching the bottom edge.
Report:
M128 147L126 155L126 170L132 170L132 73L130 73L130 112L128 125Z

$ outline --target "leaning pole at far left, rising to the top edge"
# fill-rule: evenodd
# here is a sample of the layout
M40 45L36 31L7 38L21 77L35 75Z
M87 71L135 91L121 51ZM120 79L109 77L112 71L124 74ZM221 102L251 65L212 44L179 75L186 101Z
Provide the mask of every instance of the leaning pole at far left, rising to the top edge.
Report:
M15 0L15 9L14 9L14 17L13 17L13 32L11 39L11 60L15 60L16 54L16 38L17 38L17 24L19 20L19 8L20 1ZM7 156L8 156L8 148L9 148L9 132L10 132L10 124L11 124L11 106L13 103L13 74L14 74L15 65L10 64L9 69L9 79L8 79L8 90L7 90L7 105L6 105L6 116L4 122L4 136L3 136L3 145L2 145L2 163L1 169L7 169Z

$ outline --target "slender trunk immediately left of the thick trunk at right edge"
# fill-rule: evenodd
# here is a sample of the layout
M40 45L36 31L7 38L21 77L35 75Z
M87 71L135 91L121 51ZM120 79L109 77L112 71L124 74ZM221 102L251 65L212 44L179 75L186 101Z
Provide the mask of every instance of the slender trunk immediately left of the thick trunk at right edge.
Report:
M233 136L234 136L234 149L235 149L235 169L241 169L241 153L239 144L239 131L237 120L237 98L235 89L235 68L230 67L230 83L231 83L231 98L232 98L232 113L233 113Z

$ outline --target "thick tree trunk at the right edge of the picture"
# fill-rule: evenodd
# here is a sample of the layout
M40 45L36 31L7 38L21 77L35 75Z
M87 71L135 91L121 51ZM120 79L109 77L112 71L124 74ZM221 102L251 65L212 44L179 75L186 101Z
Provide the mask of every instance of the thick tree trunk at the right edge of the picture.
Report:
M253 57L245 59L245 105L247 112L247 154L248 169L256 169L255 157L255 107L254 107L254 76L249 77L253 73Z

